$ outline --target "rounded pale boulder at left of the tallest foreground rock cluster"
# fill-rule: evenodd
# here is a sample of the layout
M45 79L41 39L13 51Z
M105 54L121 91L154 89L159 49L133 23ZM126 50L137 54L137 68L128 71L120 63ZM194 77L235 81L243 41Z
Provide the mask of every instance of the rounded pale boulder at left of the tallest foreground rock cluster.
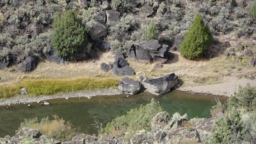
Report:
M152 131L163 129L168 124L169 121L170 121L169 113L167 113L166 111L157 113L157 115L154 116L151 122Z

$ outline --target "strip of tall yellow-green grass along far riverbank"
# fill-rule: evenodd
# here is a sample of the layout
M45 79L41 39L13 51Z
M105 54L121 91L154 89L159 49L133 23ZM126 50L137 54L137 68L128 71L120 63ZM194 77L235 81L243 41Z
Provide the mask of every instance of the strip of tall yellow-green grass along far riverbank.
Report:
M18 83L0 86L0 99L19 95L21 88L26 88L28 95L52 95L58 92L76 92L117 88L120 77L77 77L66 79L22 79Z

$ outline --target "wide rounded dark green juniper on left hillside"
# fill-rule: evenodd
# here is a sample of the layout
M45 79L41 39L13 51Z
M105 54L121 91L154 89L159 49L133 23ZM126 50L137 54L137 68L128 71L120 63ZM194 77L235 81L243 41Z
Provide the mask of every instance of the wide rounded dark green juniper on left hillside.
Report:
M72 10L64 13L63 17L60 14L56 15L52 45L58 56L69 61L76 60L79 53L86 51L87 31L86 26Z

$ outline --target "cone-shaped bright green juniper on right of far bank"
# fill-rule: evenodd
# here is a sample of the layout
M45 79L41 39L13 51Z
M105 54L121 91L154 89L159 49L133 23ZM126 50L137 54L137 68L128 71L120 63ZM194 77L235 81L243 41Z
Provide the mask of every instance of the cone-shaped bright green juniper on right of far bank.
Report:
M201 56L210 47L212 34L199 13L196 14L188 33L180 44L180 54L188 59Z

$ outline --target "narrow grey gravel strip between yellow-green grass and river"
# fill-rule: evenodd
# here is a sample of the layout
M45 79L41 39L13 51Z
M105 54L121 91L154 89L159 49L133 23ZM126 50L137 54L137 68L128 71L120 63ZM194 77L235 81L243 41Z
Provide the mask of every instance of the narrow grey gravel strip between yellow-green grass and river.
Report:
M83 90L70 93L58 93L56 95L40 95L38 97L28 97L26 95L17 95L8 99L0 100L0 106L8 106L10 104L22 104L31 102L44 102L49 99L71 98L71 97L92 97L101 95L120 95L122 92L116 89L103 89L103 90Z

